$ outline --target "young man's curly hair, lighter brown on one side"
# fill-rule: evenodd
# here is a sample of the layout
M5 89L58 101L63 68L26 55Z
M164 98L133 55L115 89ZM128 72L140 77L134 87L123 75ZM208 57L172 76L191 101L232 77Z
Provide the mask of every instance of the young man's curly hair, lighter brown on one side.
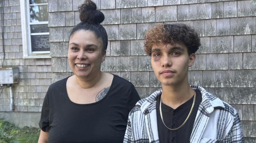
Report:
M148 30L144 41L144 51L151 56L153 44L182 43L188 48L188 55L195 53L200 44L197 33L186 24L158 24Z

